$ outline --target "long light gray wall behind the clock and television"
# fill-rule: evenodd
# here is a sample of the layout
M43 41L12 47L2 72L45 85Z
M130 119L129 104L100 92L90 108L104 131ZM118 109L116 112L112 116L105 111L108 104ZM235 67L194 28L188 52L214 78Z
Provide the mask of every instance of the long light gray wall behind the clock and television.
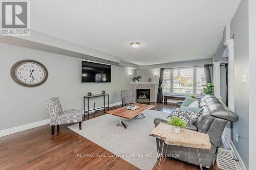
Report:
M121 101L121 90L129 89L136 70L112 65L111 83L81 83L81 59L0 43L0 130L49 118L46 100L59 97L63 109L83 108L83 95L105 90L110 104ZM10 76L14 63L33 59L44 64L48 80L41 86L27 88L16 84ZM93 106L93 105L91 105ZM102 99L96 100L96 107Z

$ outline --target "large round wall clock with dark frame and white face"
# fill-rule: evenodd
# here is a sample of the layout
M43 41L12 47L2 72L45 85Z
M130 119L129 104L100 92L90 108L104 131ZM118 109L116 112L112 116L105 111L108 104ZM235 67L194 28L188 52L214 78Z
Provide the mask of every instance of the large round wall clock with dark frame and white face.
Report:
M46 82L48 71L38 61L22 60L12 66L11 77L19 85L36 87Z

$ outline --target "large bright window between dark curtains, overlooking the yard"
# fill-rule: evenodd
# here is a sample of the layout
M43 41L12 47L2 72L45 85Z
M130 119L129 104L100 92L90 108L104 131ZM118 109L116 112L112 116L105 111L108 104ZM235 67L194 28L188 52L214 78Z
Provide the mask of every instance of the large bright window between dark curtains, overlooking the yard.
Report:
M204 68L181 68L164 71L164 93L200 94L205 84Z

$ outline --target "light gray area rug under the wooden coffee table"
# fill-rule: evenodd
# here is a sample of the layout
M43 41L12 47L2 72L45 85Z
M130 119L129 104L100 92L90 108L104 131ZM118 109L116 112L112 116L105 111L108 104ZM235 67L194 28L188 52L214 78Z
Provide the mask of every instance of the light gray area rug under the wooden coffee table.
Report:
M110 114L86 120L81 131L78 124L68 128L134 166L151 170L157 161L156 138L150 136L155 128L154 118L166 118L170 113L147 110L144 114L145 118L138 115L125 121L127 129L116 127L120 117Z

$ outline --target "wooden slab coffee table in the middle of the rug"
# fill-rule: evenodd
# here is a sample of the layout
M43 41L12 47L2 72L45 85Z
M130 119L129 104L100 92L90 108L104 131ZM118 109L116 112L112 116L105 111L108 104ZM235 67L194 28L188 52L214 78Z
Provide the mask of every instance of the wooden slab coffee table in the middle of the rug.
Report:
M155 107L153 105L145 105L145 104L140 104L140 103L132 104L132 106L139 106L139 108L136 110L129 110L129 109L126 109L125 106L123 106L123 107L119 107L119 108L116 108L113 110L106 111L105 113L113 114L113 115L119 116L121 118L132 119L140 114L143 117L145 117L143 112ZM120 123L118 123L116 126L119 126L119 125L121 125L124 129L126 129L126 125L123 123L122 119L120 119Z

